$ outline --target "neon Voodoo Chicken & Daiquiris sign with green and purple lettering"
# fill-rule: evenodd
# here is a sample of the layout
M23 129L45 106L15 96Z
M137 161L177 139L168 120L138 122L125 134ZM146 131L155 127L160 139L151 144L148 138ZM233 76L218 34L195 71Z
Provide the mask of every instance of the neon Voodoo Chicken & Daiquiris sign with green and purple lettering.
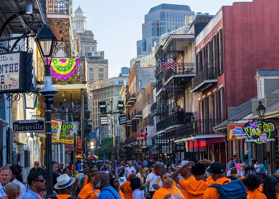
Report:
M252 121L244 124L243 131L247 135L247 138L244 138L244 142L254 142L257 144L275 142L276 139L271 137L272 132L275 131L275 125L272 122L263 122L264 131L261 132L261 129L261 121Z

